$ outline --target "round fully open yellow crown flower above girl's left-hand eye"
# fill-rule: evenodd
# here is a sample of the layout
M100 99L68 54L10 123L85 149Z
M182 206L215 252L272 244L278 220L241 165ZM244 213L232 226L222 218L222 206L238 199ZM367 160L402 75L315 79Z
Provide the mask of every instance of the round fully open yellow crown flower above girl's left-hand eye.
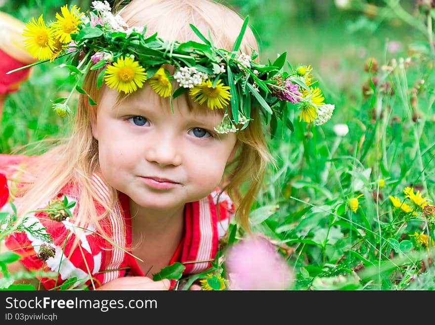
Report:
M139 62L121 56L113 65L107 66L104 80L109 88L116 88L119 93L132 93L142 88L146 72Z

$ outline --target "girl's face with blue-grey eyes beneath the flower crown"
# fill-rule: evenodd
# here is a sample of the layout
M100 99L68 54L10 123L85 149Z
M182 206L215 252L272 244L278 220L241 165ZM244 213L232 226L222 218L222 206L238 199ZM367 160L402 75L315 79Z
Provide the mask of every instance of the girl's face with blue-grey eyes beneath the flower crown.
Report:
M234 133L214 136L221 112L190 110L184 96L161 98L149 86L116 105L106 89L92 134L104 180L142 207L179 208L210 194L236 149Z

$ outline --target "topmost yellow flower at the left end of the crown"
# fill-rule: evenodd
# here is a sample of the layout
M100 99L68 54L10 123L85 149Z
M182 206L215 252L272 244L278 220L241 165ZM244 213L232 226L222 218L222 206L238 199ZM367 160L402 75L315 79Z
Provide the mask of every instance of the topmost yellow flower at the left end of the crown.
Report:
M56 21L51 25L54 30L54 35L60 39L62 43L71 42L71 34L75 34L79 31L79 25L82 23L80 17L84 14L80 12L80 8L73 5L71 11L68 10L68 4L60 7L62 15L56 12Z

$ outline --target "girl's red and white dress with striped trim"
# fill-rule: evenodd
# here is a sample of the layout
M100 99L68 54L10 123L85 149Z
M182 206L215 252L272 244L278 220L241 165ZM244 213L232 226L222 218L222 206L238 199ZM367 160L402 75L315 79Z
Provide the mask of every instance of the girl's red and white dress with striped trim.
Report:
M0 165L1 165L0 155ZM3 159L4 160L4 159ZM95 193L104 201L109 200L109 190L104 181L96 174L92 177ZM170 264L174 262L195 262L213 260L217 254L218 240L228 230L229 222L234 216L234 204L229 196L223 192L217 203L219 188L207 197L186 203L184 209L185 233L180 241ZM76 186L65 186L58 198L67 196L68 202L76 201L71 209L72 215L77 215L80 206L79 191ZM48 199L46 199L48 204ZM46 205L44 205L45 207ZM101 206L96 205L97 212L103 212ZM219 209L219 215L217 214ZM1 212L11 212L10 204L6 204ZM57 288L67 279L81 279L81 287L92 289L111 280L125 276L144 276L131 251L123 247L131 247L131 216L129 198L119 192L115 209L102 224L106 232L111 233L110 241L103 238L93 225L86 229L77 228L73 221L67 218L58 222L50 220L46 212L29 214L25 223L30 226L36 223L34 229L46 228L44 232L51 234L53 239L49 243L55 249L55 256L45 262L37 257L41 239L30 232L15 232L9 235L5 244L9 250L21 255L20 261L29 270L52 271L57 278L43 278L42 284L46 289ZM79 244L74 245L75 239ZM183 274L200 273L212 265L210 262L186 263ZM92 284L93 282L93 284ZM175 285L172 280L171 288ZM79 286L80 287L80 286Z

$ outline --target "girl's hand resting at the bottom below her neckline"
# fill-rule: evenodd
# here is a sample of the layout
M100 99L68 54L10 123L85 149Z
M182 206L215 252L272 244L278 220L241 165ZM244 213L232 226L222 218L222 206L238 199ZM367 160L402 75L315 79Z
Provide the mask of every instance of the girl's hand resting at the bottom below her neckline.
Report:
M153 281L147 277L125 277L103 284L97 290L169 290L171 281Z

